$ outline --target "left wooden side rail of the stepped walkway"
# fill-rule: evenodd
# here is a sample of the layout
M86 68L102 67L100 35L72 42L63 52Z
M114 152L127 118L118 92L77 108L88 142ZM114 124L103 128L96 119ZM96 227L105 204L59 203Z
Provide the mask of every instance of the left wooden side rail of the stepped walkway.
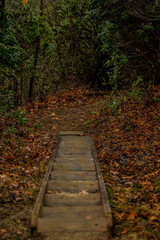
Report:
M60 136L57 137L57 143L54 147L54 150L51 154L50 160L49 160L49 164L46 170L46 173L44 175L43 181L42 181L42 185L40 188L40 191L38 193L33 211L32 211L32 215L31 215L31 229L34 229L37 227L37 221L38 221L38 217L39 217L39 213L40 213L40 208L43 204L43 198L44 198L44 194L47 188L47 183L48 183L48 179L50 176L50 173L52 171L52 165L54 163L56 154L58 152L58 148L59 148L59 144L60 144Z

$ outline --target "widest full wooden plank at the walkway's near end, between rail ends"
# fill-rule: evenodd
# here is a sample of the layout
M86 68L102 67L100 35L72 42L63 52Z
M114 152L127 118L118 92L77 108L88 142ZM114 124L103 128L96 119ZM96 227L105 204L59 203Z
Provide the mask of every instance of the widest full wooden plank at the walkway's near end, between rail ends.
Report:
M105 217L97 219L86 218L39 218L38 232L106 232L107 225Z

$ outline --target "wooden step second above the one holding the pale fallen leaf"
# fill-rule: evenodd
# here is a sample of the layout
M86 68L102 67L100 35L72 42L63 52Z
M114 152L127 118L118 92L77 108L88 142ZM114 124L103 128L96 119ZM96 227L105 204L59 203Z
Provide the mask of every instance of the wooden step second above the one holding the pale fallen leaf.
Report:
M53 170L54 171L92 171L95 170L95 165L93 163L53 163Z

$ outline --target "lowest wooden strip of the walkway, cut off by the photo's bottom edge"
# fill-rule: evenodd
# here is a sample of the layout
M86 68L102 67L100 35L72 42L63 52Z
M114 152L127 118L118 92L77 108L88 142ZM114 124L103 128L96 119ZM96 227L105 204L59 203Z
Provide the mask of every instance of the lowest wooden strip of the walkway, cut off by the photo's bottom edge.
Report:
M89 229L88 229L89 231ZM108 232L52 232L46 240L109 240Z

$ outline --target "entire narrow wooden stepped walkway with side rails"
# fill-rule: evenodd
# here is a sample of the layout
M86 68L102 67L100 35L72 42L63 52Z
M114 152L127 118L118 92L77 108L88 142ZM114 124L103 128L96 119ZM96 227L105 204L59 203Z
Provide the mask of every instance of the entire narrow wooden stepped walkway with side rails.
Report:
M111 209L92 139L81 132L61 132L31 226L48 240L106 240L111 224Z

